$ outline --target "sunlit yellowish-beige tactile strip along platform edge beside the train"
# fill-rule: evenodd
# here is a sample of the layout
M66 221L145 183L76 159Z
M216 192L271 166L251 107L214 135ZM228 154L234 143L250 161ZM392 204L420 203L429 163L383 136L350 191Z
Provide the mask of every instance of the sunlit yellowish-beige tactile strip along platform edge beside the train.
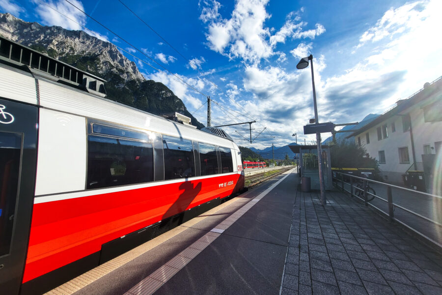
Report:
M114 259L112 259L112 260L110 260L100 266L97 266L94 269L91 269L91 270L83 273L82 275L70 280L69 282L66 282L63 285L58 286L57 288L49 291L45 295L71 295L71 294L79 291L80 289L86 287L90 283L96 281L97 279L107 275L108 273L117 269L118 267L125 265L126 263L134 260L138 256L140 256L140 255L146 253L147 251L153 249L154 247L160 245L161 243L165 242L166 240L170 239L171 237L174 237L174 236L184 232L185 230L187 230L187 228L192 227L193 225L204 220L205 218L209 217L210 215L215 214L216 212L220 211L221 209L223 209L227 206L230 206L231 204L238 202L240 200L244 200L244 199L234 198L232 200L229 200L229 201L221 204L220 206L210 209L209 211L205 212L203 214L203 216L197 216L197 217L193 218L192 220L189 220L188 222L183 223L181 226L178 226L178 227L166 232L165 234L163 234L161 236L157 236L154 239L151 239L151 240L145 242L144 244L139 245L138 247L136 247L136 248L134 248L134 249L118 256L118 257L115 257ZM198 253L196 253L196 254L198 254ZM161 283L160 286L161 285L163 285L163 283Z

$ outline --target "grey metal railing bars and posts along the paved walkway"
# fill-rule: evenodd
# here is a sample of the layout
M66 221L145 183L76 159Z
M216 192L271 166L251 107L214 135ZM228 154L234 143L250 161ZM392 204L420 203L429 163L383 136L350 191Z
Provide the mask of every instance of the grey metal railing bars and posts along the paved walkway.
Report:
M427 239L428 241L430 241L431 243L433 243L434 245L436 245L440 249L442 249L440 235L436 235L436 237L430 237L430 236L428 236L428 234L420 232L419 230L416 229L415 224L411 224L410 222L408 222L408 224L407 224L406 222L396 218L394 216L394 211L395 211L395 208L399 208L407 213L412 214L413 216L418 217L421 220L425 220L426 222L433 224L435 227L441 227L441 228L436 229L437 233L442 233L442 223L437 220L434 220L430 217L427 217L427 216L424 216L424 215L419 214L417 212L414 212L413 210L410 210L404 206L393 203L392 189L394 188L395 190L401 190L404 192L412 192L413 194L416 194L416 196L435 198L436 200L438 200L438 202L440 202L440 204L442 204L442 197L441 196L433 195L433 194L429 194L429 193L424 193L424 192L419 192L419 191L415 191L415 190L412 190L409 188L400 187L397 185L393 185L393 184L389 184L389 183L385 183L385 182L380 182L380 181L368 179L365 177L353 176L353 175L349 175L349 174L345 174L345 173L341 173L341 172L333 171L332 175L333 175L333 185L335 185L337 188L340 188L342 191L349 193L351 197L358 198L359 200L364 202L365 206L373 207L374 209L377 209L382 214L387 215L390 222L395 221L395 222L402 224L406 228L412 230L414 233L418 234L419 236L422 236L423 238ZM348 181L347 179L349 179L349 182L347 182ZM362 188L357 187L356 184L361 183L361 182L363 183L363 185L361 185ZM369 183L387 186L387 198L382 198L382 196L368 192ZM347 185L347 187L350 186L350 190L347 190L345 185ZM355 194L355 192L357 192L357 191L360 192L359 196L362 196L362 197L359 197L358 195ZM387 210L383 210L380 207L377 207L377 206L371 204L370 201L367 201L369 197L370 197L370 199L371 199L371 197L374 197L374 200L380 200L383 203L387 203ZM438 202L436 202L436 204L438 204Z

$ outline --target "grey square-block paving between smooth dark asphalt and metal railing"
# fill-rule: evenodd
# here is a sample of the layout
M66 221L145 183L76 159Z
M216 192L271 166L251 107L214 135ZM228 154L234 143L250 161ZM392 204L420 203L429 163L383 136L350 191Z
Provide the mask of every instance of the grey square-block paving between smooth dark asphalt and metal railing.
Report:
M341 192L297 192L282 294L442 294L442 257Z

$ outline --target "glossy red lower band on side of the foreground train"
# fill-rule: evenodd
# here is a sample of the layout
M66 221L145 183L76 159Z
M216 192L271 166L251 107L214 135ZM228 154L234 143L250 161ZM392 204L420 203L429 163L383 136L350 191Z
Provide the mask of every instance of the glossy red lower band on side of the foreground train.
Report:
M35 204L23 283L243 186L236 174Z

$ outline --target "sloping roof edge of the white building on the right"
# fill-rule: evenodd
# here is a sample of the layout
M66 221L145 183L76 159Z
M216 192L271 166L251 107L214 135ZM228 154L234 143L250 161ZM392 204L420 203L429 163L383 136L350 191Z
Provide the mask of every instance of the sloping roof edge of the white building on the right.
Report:
M396 106L389 109L387 112L385 112L384 114L382 114L378 118L374 119L370 123L366 124L365 126L359 128L358 130L356 130L355 132L353 132L352 134L350 134L346 138L350 138L352 136L356 136L358 134L361 134L362 132L370 129L371 127L376 126L379 123L387 120L388 118L391 118L391 117L405 111L406 109L414 106L416 103L418 103L418 102L420 102L420 101L422 101L422 100L424 100L424 99L426 99L426 98L428 98L438 92L440 92L442 94L442 76L439 77L438 79L434 80L431 83L425 83L425 85L422 89L415 92L414 94L412 94L408 98L398 100L396 102Z

